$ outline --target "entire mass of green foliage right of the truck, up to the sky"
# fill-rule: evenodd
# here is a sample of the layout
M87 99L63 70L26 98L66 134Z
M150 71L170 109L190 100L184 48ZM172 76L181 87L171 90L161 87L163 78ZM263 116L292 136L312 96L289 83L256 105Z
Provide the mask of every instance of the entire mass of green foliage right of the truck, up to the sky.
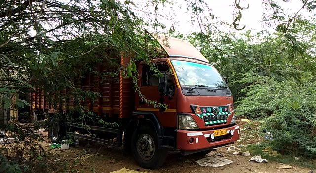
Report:
M278 25L275 33L189 36L229 80L237 115L260 120L261 130L273 135L265 144L282 154L316 158L315 29L315 18L296 17Z

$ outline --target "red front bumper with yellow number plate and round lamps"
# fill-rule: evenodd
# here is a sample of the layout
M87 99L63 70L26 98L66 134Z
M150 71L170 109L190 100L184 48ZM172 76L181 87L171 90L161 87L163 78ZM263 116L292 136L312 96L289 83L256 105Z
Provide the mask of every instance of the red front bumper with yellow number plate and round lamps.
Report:
M214 140L210 139L210 135L217 130L227 130L227 134L215 137ZM234 130L234 134L230 135L230 131ZM227 143L232 143L239 139L240 128L239 125L231 127L216 129L216 130L203 130L203 131L190 131L190 130L177 130L177 149L183 151L203 150L207 148L216 148ZM193 142L190 143L190 138ZM192 140L192 139L191 139Z

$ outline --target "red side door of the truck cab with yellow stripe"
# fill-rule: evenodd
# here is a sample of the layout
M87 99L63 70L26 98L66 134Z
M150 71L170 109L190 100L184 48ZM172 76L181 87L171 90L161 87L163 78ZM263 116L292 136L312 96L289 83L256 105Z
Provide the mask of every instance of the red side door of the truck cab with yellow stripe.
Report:
M158 63L157 68L160 72L164 73L169 71L169 66L167 64ZM153 112L159 119L160 123L165 127L176 127L177 126L177 93L175 89L175 82L173 75L169 75L168 89L171 93L171 96L161 96L158 91L159 78L155 76L155 73L150 69L148 65L140 66L140 89L142 94L152 101L158 103L164 103L168 105L166 110L161 110L155 108L153 105L148 105L141 101L139 96L136 96L136 108L137 111L148 111Z

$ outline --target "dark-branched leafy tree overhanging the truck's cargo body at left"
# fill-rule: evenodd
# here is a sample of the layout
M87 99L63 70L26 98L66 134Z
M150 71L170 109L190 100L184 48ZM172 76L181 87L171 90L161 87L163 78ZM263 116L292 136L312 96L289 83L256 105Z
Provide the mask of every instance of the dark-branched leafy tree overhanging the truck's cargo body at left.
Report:
M135 55L133 61L149 61L150 52L144 50L143 22L128 9L127 1L11 0L1 1L0 11L0 103L4 109L10 107L13 93L28 95L35 88L44 88L51 93L56 91L54 97L49 95L50 103L54 105L69 98L93 100L98 93L74 87L76 77L95 73L102 78L118 75L124 70L126 77L133 77L135 85L137 83L135 63L125 69L119 67L110 74L97 72L93 68L96 63L108 59L118 66L118 59L114 57L121 53ZM111 50L111 55L107 50ZM69 95L59 92L65 88L71 88ZM20 108L29 106L23 99L16 103L14 106ZM73 111L80 113L79 119L95 116L87 113L80 102L75 103ZM22 130L14 124L1 125L1 129L20 139L18 143L25 146L25 151L41 148L37 144L41 138L33 131ZM12 166L15 172L16 164L19 168L25 162L23 159L11 162L18 160L11 157L11 151L1 148L0 158L2 154L7 158L1 159L1 164L6 168ZM39 151L43 151L42 148ZM30 153L21 152L20 156L23 158L27 154ZM37 156L42 159L27 163L27 171L45 163L42 152L34 153L34 157Z

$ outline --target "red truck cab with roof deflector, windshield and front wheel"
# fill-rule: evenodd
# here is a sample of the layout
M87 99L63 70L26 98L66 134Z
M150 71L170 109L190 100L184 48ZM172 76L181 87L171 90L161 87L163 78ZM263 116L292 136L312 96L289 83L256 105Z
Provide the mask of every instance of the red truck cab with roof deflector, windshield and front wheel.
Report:
M150 121L145 123L145 130L139 129L132 142L137 162L148 168L165 159L165 150L183 155L206 154L213 148L232 144L240 134L231 91L216 68L184 40L160 35L158 41L168 56L153 59L152 63L163 75L155 76L142 62L138 86L148 100L166 104L167 109L145 104L136 95L133 113L140 120Z

